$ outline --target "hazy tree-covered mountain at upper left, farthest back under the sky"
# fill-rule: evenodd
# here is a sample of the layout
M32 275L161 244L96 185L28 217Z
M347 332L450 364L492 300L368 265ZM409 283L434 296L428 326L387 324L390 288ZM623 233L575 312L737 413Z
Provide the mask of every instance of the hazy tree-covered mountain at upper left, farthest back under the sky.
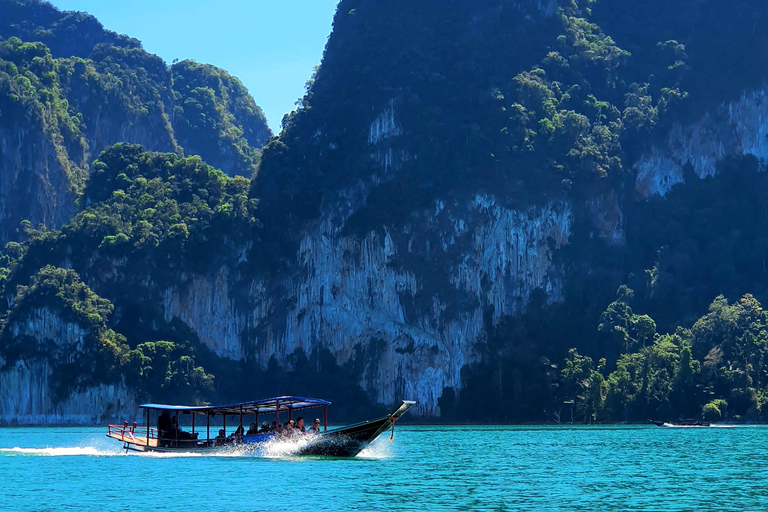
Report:
M39 0L0 8L0 129L47 135L75 190L117 142L198 154L231 176L256 172L271 132L237 78L192 61L169 68L85 13Z

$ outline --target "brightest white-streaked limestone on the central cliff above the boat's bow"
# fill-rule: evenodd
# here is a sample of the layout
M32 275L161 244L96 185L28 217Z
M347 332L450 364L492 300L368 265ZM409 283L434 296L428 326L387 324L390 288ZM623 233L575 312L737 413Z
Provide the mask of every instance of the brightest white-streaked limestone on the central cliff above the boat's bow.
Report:
M420 414L436 414L443 388L460 387L461 368L474 360L488 304L498 320L519 311L537 287L551 300L559 298L561 279L552 268L548 240L556 247L567 243L572 222L565 203L515 211L493 197L478 196L464 210L466 218L456 217L455 210L438 203L431 217L436 225L447 220L451 226L440 234L444 245L470 237L469 247L457 243L453 248L464 257L451 270L451 282L458 293L477 298L474 309L446 319L442 312L447 305L434 299L431 311L408 318L402 298L420 290L419 276L392 264L408 248L398 247L387 230L343 237L343 223L324 216L301 243L299 261L305 272L291 285L295 306L288 311L285 330L258 344L260 358L284 360L297 348L305 353L327 348L343 363L356 344L367 346L378 338L384 341L383 353L373 375L364 376L361 384L381 403L413 398ZM260 304L254 312L256 324L269 309L264 307L263 284L252 286L252 297Z

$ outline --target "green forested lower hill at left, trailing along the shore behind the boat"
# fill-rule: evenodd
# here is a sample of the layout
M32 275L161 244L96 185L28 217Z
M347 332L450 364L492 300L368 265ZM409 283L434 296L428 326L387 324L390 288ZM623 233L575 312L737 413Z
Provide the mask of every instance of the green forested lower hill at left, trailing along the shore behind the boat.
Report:
M26 223L23 243L3 250L0 287L11 297L0 307L4 368L45 361L57 400L125 382L153 400L226 402L290 392L336 397L339 419L381 412L359 384L374 357L367 348L357 347L341 366L327 350L294 353L283 365L274 358L264 365L253 357L232 361L211 353L178 319L164 320L163 290L222 264L236 268L239 255L258 245L248 179L230 178L199 157L129 144L107 149L92 168L81 197L88 206L72 222L56 231ZM45 314L85 332L82 342L25 334L25 323Z

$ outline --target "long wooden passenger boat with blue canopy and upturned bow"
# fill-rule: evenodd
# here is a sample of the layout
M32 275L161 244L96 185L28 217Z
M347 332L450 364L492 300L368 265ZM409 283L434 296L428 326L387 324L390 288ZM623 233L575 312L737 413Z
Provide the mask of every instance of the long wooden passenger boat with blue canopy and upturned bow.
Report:
M253 402L242 402L230 405L208 405L208 406L189 406L189 405L164 405L164 404L143 404L139 407L146 410L147 425L139 426L135 422L129 425L124 422L122 425L109 425L107 437L118 440L123 443L126 451L136 452L210 452L214 450L231 449L233 446L256 446L259 443L283 439L283 434L274 431L262 431L255 435L245 435L243 422L254 422L258 426L259 417L270 415L274 417L276 425L280 425L280 415L288 415L288 419L294 419L294 412L311 409L323 408L323 430L318 433L294 433L286 440L297 441L297 455L329 455L334 457L354 457L360 453L366 446L375 441L382 433L392 430L394 436L395 422L405 414L416 402L403 400L400 406L392 414L377 418L371 421L355 423L342 428L328 430L328 406L331 402L318 398L304 398L296 396L280 396L256 400ZM150 417L153 411L173 414L187 414L192 416L192 427L190 432L174 427L161 432L158 428L152 428ZM196 430L196 418L203 416L205 418L205 430ZM211 418L221 416L223 427L223 436L211 437ZM233 418L237 430L226 436L227 417ZM168 416L170 419L170 416ZM231 425L231 423L230 423ZM219 428L218 425L214 428ZM201 434L205 433L205 437ZM391 439L391 438L390 438Z

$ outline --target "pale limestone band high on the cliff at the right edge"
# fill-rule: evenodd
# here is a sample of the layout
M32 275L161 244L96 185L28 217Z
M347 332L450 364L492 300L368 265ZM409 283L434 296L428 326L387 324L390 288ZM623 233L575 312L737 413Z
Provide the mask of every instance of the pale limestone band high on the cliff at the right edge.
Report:
M746 154L768 159L768 87L742 94L698 123L673 127L666 143L652 148L635 165L636 188L644 197L663 196L683 182L687 163L704 178L715 174L724 157Z

